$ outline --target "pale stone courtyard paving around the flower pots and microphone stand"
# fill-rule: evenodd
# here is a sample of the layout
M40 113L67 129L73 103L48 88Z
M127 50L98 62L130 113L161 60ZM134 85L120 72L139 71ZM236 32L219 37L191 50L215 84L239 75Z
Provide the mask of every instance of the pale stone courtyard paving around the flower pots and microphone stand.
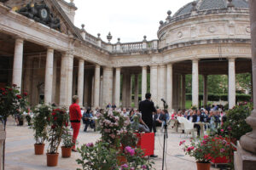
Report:
M100 138L99 133L83 132L83 126L79 133L79 145L89 142L95 142ZM179 133L169 132L167 139L167 156L166 156L166 169L167 170L195 170L195 160L192 157L184 156L183 150L178 145L180 140L189 139L180 135ZM6 158L5 169L6 170L43 170L43 169L55 169L55 170L75 170L79 167L76 159L79 158L79 153L72 153L72 157L68 159L61 158L59 156L58 167L46 167L46 156L35 156L33 149L34 139L33 132L27 126L17 127L9 122L7 126L7 139L6 139ZM162 145L163 145L163 133L157 133L155 137L155 155L158 158L154 159L154 168L156 170L161 169L162 158ZM47 147L47 145L46 145ZM213 168L211 170L215 170Z

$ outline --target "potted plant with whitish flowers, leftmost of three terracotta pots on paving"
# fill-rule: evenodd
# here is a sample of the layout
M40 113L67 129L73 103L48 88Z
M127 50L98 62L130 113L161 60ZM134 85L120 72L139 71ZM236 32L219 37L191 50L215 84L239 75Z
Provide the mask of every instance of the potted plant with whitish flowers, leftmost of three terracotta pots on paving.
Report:
M33 118L31 128L34 131L35 155L44 154L44 141L48 139L47 126L49 125L49 116L52 108L49 105L37 105L33 109Z

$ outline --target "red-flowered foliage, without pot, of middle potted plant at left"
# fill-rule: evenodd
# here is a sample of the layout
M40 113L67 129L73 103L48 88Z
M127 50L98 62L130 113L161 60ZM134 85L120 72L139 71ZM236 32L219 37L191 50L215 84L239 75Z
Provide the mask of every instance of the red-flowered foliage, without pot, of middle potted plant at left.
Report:
M61 144L61 137L68 126L68 115L64 109L55 109L50 115L49 154L55 154Z

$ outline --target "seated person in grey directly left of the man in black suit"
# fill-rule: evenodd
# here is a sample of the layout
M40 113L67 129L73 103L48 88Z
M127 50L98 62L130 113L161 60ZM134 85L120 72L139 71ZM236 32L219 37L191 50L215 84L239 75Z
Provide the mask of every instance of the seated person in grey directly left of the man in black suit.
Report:
M133 116L133 122L131 122L131 127L134 131L138 131L139 133L150 133L150 130L145 122L143 122L142 115L140 113L136 113Z

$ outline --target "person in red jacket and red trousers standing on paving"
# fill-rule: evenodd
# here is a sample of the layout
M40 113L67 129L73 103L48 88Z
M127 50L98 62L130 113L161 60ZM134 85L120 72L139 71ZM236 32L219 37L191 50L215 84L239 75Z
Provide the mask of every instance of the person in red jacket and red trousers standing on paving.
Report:
M80 122L82 118L80 106L79 106L79 96L74 95L72 98L73 104L69 106L69 118L71 122L71 126L73 127L73 148L72 150L74 152L77 152L76 150L76 141L79 136L79 129L80 129Z

